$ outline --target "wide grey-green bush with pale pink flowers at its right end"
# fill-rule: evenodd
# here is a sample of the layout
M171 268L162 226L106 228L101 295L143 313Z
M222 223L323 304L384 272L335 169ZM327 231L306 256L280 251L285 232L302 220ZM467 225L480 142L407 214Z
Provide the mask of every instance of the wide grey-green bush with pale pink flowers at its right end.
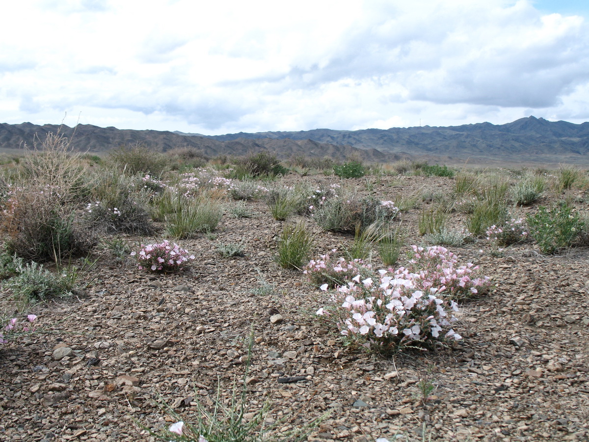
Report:
M386 223L394 219L398 213L391 201L350 194L326 199L314 207L313 217L323 230L355 233L357 227L362 232L376 221Z

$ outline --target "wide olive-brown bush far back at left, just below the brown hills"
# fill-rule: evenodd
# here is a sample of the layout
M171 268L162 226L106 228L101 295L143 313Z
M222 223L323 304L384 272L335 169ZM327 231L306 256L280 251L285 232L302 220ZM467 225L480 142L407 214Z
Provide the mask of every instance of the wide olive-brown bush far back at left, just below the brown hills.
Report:
M130 175L161 176L168 169L166 156L142 143L122 144L108 152L107 160Z

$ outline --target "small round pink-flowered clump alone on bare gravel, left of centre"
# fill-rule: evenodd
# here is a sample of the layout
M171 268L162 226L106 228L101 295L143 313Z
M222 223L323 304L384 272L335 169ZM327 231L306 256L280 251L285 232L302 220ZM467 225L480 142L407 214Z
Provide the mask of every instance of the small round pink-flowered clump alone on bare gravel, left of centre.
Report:
M176 272L182 270L189 260L194 259L194 255L188 255L188 252L176 243L170 245L168 240L160 244L142 244L139 253L131 252L131 256L137 256L140 270L150 269L153 272Z

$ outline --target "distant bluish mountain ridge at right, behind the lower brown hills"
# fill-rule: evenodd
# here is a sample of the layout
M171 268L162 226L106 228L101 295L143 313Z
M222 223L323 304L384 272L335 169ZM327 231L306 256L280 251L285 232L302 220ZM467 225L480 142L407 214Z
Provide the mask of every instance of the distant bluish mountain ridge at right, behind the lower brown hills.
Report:
M477 123L449 127L408 127L356 131L315 129L299 132L260 132L210 136L229 141L239 138L310 140L359 149L408 152L432 156L526 156L589 153L589 123L520 118L507 124Z

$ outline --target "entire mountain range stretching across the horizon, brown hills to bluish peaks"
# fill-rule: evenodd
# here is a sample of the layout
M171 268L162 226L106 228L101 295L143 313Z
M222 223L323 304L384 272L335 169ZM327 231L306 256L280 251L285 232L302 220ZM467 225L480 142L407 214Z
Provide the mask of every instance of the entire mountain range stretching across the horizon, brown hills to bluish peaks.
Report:
M41 137L59 126L31 123L0 124L0 148L32 146L35 134ZM393 161L402 157L458 163L470 159L514 163L589 164L589 123L520 118L507 124L477 123L450 127L408 127L364 130L315 129L296 132L236 133L203 136L170 131L120 130L80 124L74 129L62 126L61 133L72 137L75 149L103 152L121 144L144 143L166 151L190 146L208 156L243 155L268 150L285 159L290 156L331 156L345 159L358 154L367 161Z

